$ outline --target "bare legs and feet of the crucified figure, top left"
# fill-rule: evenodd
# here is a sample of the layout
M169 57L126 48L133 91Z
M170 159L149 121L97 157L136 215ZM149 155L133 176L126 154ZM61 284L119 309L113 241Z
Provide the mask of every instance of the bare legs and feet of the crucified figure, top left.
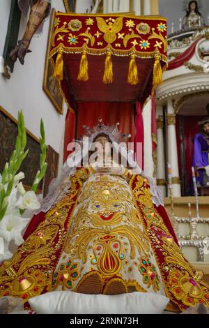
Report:
M29 4L31 6L31 11L26 31L24 32L22 40L19 40L18 45L16 45L16 47L10 52L10 60L15 62L18 57L22 65L24 64L26 53L31 52L31 50L29 50L31 39L33 38L34 33L38 30L38 27L40 27L42 21L47 15L49 15L51 6L50 0L30 0L27 4L28 7Z

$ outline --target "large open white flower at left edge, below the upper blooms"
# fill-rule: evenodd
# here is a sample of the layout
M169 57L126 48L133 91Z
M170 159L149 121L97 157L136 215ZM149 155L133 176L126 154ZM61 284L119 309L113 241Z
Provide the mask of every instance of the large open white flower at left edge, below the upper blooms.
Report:
M24 242L21 232L29 220L30 218L22 218L13 214L4 216L0 221L0 237L5 241L14 239L15 245L21 245Z

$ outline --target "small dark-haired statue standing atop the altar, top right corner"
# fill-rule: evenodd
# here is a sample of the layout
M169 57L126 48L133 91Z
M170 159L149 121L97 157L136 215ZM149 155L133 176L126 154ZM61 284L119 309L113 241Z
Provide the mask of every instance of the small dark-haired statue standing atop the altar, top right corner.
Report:
M203 16L199 12L197 1L189 1L185 11L186 15L183 19L183 29L198 29L204 26Z

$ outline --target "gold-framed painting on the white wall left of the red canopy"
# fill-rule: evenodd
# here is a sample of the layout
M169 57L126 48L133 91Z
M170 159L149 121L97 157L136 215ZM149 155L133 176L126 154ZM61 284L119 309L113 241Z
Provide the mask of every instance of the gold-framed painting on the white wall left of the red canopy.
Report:
M63 114L63 96L59 89L59 81L54 79L54 63L51 59L49 59L49 51L50 45L52 40L52 27L54 24L54 19L56 15L56 10L53 8L51 12L50 22L49 22L49 35L48 35L48 43L47 43L47 52L45 58L45 72L44 72L44 79L43 79L43 89L45 94L49 97L52 101L56 110Z

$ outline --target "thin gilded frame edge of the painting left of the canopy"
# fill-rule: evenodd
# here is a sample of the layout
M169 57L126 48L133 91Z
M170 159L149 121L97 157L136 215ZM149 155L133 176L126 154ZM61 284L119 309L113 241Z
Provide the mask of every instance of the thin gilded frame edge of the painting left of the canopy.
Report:
M59 105L57 105L54 98L52 97L52 95L49 93L49 90L47 89L47 70L49 67L49 60L51 60L51 59L49 59L49 54L50 54L52 31L53 31L55 15L56 15L56 10L55 10L55 8L52 8L52 13L51 13L50 22L49 22L49 33L48 33L48 39L47 39L47 53L46 53L46 57L45 57L45 70L44 70L44 78L43 78L43 82L42 82L42 89L45 91L45 94L47 94L47 97L49 98L49 100L52 101L52 104L56 108L57 112L59 112L60 114L63 114L64 98L62 100L62 105L60 108ZM54 61L52 61L52 65L54 65ZM62 95L62 97L63 97L63 95Z

